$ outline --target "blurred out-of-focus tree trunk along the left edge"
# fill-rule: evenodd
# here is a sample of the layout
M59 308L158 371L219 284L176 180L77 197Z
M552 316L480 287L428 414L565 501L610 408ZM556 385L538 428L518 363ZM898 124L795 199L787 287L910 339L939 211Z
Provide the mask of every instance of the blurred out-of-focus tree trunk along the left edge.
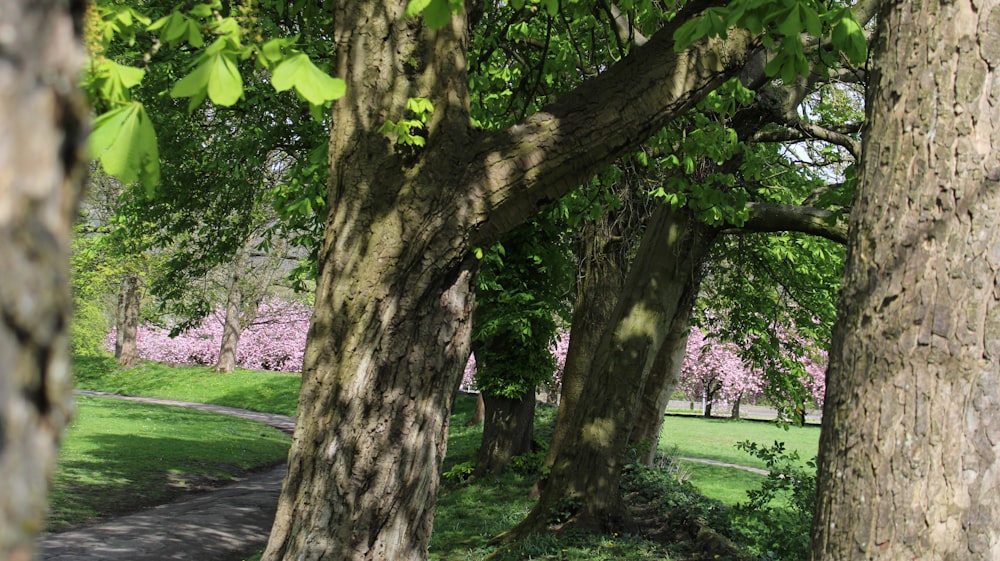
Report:
M0 8L0 559L11 561L32 558L71 409L67 277L86 115L74 8Z

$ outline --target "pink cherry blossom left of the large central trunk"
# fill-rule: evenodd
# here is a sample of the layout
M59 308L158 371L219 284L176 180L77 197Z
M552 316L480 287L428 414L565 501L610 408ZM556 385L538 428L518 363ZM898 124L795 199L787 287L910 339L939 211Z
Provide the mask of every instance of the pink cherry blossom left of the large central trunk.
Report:
M286 300L270 300L260 306L256 320L240 337L236 363L242 368L300 372L312 308ZM217 309L199 325L171 338L169 329L151 324L139 326L137 345L145 360L171 364L215 364L219 358L224 310ZM114 348L112 331L106 348Z

